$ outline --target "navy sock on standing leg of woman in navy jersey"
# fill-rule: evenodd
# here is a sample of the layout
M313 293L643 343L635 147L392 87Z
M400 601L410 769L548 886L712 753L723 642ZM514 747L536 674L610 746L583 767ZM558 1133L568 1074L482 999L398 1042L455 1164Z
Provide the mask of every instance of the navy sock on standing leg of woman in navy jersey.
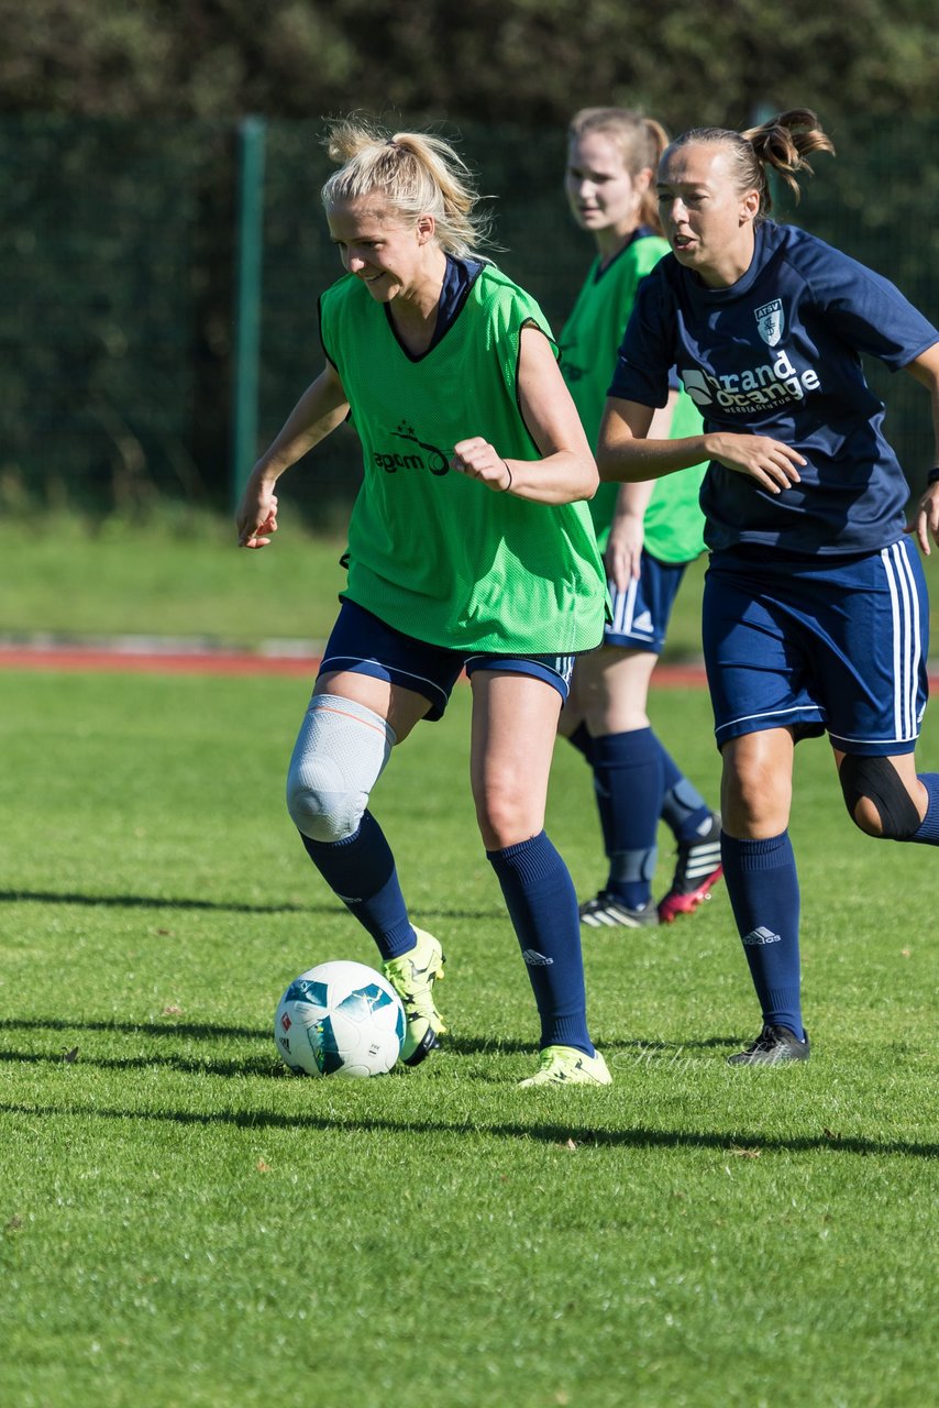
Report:
M798 876L788 831L767 841L721 834L731 908L767 1026L805 1036L800 1002Z

